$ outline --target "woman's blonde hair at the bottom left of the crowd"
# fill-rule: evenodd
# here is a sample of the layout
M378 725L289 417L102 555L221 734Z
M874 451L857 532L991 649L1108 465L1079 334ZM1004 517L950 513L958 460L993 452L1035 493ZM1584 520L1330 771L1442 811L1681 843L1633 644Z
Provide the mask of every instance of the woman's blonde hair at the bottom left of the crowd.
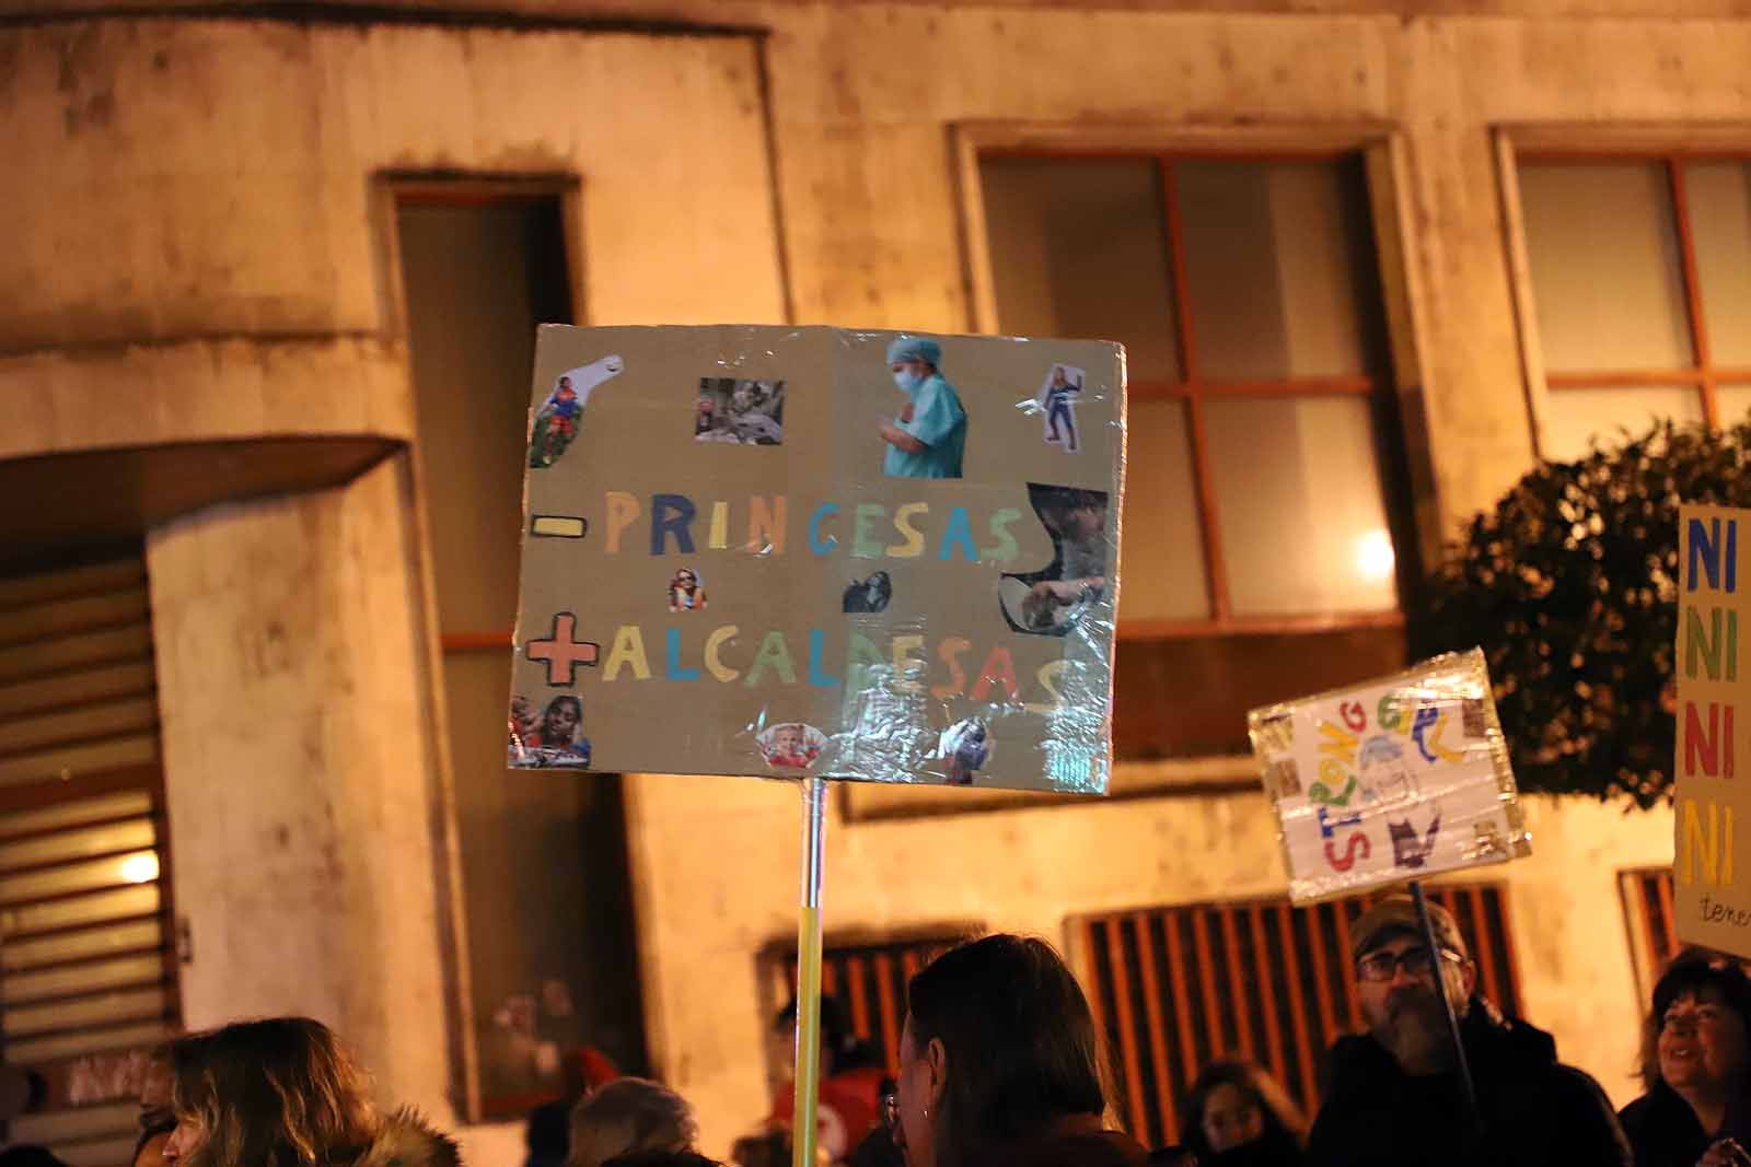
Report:
M203 1132L187 1167L331 1167L376 1132L369 1081L308 1017L238 1022L170 1043L177 1122Z

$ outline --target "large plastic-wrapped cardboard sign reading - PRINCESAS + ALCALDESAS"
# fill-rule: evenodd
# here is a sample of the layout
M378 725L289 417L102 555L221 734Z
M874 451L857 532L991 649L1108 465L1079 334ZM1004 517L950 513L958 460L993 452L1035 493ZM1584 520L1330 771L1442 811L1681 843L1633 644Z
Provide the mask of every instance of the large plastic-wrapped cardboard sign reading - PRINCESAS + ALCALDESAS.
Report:
M543 327L510 765L1103 793L1124 359Z

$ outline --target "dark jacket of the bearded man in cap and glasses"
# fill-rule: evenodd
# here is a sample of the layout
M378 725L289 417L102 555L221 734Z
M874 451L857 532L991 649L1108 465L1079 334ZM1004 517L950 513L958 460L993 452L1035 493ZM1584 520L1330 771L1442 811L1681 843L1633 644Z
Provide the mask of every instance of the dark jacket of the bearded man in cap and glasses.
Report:
M1478 1129L1457 1073L1411 1078L1373 1036L1331 1048L1331 1087L1308 1139L1313 1167L1628 1167L1599 1083L1557 1060L1557 1043L1474 997L1460 1024L1478 1085Z

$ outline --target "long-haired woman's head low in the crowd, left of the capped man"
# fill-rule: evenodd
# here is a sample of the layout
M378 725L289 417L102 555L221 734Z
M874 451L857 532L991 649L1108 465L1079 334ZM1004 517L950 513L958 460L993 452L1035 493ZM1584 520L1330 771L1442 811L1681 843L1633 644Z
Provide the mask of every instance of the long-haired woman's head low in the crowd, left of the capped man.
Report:
M1294 1167L1304 1141L1301 1111L1252 1062L1210 1062L1185 1094L1180 1143L1199 1167Z

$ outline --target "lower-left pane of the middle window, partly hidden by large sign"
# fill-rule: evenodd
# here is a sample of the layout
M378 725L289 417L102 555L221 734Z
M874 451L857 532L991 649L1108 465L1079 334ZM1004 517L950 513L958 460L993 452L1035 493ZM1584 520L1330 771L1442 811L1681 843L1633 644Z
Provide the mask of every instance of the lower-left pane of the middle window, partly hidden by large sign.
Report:
M1185 402L1135 401L1126 415L1119 619L1206 619Z

